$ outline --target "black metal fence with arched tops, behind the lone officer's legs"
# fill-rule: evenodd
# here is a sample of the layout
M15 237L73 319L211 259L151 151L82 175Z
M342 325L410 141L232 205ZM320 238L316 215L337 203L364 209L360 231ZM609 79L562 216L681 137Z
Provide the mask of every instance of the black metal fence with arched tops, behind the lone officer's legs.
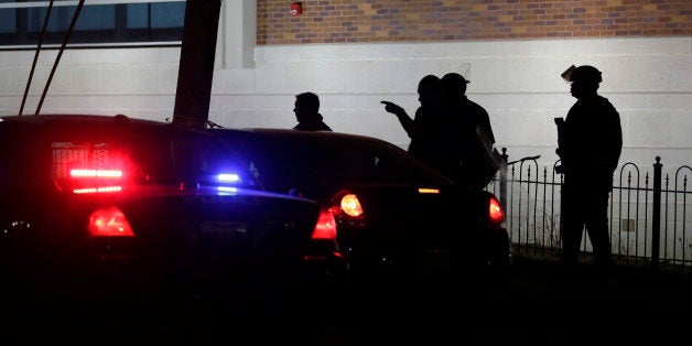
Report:
M486 190L495 193L505 207L506 227L515 251L520 255L556 258L561 251L560 195L562 174L559 160L539 165L539 156L509 161ZM625 266L661 266L692 270L692 220L689 215L688 176L683 165L663 174L659 156L651 171L627 162L616 171L608 204L613 255ZM582 257L592 253L585 233Z

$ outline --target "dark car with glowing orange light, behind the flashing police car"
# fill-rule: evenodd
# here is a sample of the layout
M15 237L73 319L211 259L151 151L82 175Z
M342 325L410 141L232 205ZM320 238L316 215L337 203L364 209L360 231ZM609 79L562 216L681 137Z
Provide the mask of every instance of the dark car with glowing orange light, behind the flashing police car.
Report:
M354 275L453 270L502 279L510 269L497 197L453 184L387 141L288 129L207 131L238 152L266 188L326 206Z

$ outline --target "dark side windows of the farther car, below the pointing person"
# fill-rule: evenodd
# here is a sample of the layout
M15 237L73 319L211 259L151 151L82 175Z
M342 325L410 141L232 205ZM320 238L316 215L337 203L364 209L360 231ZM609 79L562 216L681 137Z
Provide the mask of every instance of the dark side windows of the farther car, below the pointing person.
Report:
M310 184L448 184L437 172L387 144L258 137L239 139L231 147L239 148L256 177L272 191Z

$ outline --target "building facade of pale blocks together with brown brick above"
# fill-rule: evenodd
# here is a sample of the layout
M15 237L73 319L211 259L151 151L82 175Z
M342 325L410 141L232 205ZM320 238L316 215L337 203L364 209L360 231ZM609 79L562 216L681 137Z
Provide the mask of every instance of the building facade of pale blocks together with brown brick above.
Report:
M87 1L88 2L88 1ZM560 74L603 72L620 112L621 163L692 162L692 3L666 1L225 0L209 120L290 128L294 95L313 91L335 131L409 139L380 100L412 115L418 82L459 72L510 160L556 156L554 117L574 102ZM58 53L43 50L26 100L33 112ZM0 50L0 113L17 113L34 51ZM69 47L41 112L171 119L180 45Z

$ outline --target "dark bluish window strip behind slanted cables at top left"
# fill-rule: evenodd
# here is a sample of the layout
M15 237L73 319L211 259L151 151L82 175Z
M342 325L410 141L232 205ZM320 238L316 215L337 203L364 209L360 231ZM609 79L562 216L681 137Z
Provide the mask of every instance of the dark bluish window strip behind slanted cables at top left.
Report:
M35 48L46 14L42 46L60 46L79 1L0 0L0 48ZM185 0L88 0L79 12L69 46L180 45Z

